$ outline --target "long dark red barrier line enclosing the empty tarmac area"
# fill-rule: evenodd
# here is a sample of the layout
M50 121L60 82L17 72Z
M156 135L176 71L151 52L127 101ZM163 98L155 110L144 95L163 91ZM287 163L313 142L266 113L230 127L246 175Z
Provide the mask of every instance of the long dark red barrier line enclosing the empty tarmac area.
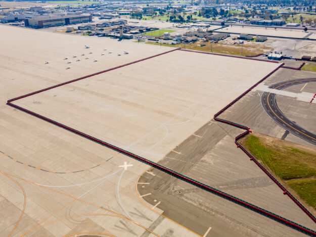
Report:
M82 80L82 79L87 78L87 77L95 76L95 75L98 75L98 74L101 74L101 73L104 73L104 72L107 72L107 71L111 71L111 70L114 70L114 69L117 69L117 68L121 68L121 67L130 65L130 64L133 64L133 63L141 62L141 61L144 61L144 60L146 60L146 59L151 59L151 58L154 58L154 57L157 57L157 56L160 56L160 55L169 53L169 52L173 52L173 51L176 51L176 50L179 50L179 49L171 50L171 51L168 51L168 52L165 52L165 53L162 53L162 54L158 54L158 55L151 56L151 57L148 57L148 58L145 58L145 59L141 59L141 60L138 60L138 61L134 61L134 62L132 62L132 63L124 64L124 65L122 65L122 66L114 67L114 68L111 68L111 69L108 69L108 70L104 70L104 71L101 71L101 72L98 72L98 73L94 73L94 74L87 75L87 76L84 76L84 77L80 77L80 78L77 78L77 79L74 79L74 80L71 80L71 81L67 81L67 82L64 82L64 83L61 83L61 84L58 84L58 85L55 85L55 86L51 86L51 87L48 87L48 88L44 88L44 89L41 89L41 90L37 90L37 91L34 91L34 92L32 92L32 93L25 94L24 96L20 96L20 97L17 97L17 98L8 100L7 105L12 106L12 107L14 107L14 108L17 108L17 109L19 109L19 110L21 110L21 111L23 111L23 112L26 112L26 113L28 113L28 114L31 114L31 115L33 115L33 116L35 116L35 117L38 117L38 118L40 118L40 119L43 119L43 120L45 120L45 121L47 121L47 122L50 122L50 123L52 123L52 124L55 124L55 125L57 125L57 126L59 126L59 127L62 127L62 128L64 128L64 129L68 130L68 131L71 131L71 132L76 133L76 134L78 134L78 135L80 135L80 136L83 136L83 137L85 137L85 138L87 138L87 139L93 140L93 141L95 141L96 143L99 143L99 144L101 144L101 145L103 145L103 146L106 146L106 147L108 147L108 148L111 148L111 149L113 149L113 150L115 150L115 151L117 151L117 152L123 153L123 154L125 154L125 155L127 155L127 156L129 156L129 157L132 157L132 158L134 158L134 159L136 159L136 160L139 160L139 161L141 161L141 162L144 162L144 163L146 163L146 164L148 164L148 165L150 165L150 166L152 166L152 167L155 167L155 168L157 168L157 169L159 169L159 170L161 170L161 171L163 171L163 172L166 172L166 173L168 173L168 174L170 174L170 175L173 175L173 176L175 176L175 177L177 177L177 178L179 178L179 179L182 179L182 180L184 180L184 181L186 181L186 182L189 182L189 183L191 183L191 184L193 184L193 185L196 185L196 186L198 186L198 187L200 187L200 188L203 188L203 189L205 189L205 190L207 190L207 191L209 191L209 192L211 192L211 193L213 193L213 194L216 194L216 195L218 195L218 196L220 196L220 197L223 197L223 198L228 199L228 200L231 200L231 201L233 201L233 202L235 202L235 203L237 203L237 204L240 204L240 205L242 205L242 206L245 206L245 207L247 207L248 209L254 210L254 211L256 211L256 212L258 212L258 213L260 213L260 214L262 214L262 215L268 216L268 217L270 217L270 218L272 218L272 219L275 219L275 220L277 220L277 221L279 221L279 222L281 222L281 223L283 223L283 224L289 225L289 226L291 226L291 227L293 227L293 228L295 228L295 229L297 229L297 230L300 230L300 231L303 231L303 232L305 232L305 233L308 233L308 234L311 234L311 235L316 236L316 231L314 231L314 230L311 230L311 229L309 229L309 228L307 228L307 227L304 227L304 226L302 226L302 225L300 225L300 224L297 224L297 223L295 223L295 222L293 222L293 221L291 221L291 220L288 220L288 219L286 219L286 218L284 218L284 217L281 217L281 216L279 216L279 215L277 215L277 214L275 214L275 213L272 213L272 212L269 212L269 211L267 211L267 210L264 210L264 209L262 209L262 208L260 208L260 207L258 207L258 206L255 206L255 205L253 205L253 204L251 204L251 203L248 203L248 202L246 202L246 201L244 201L244 200L241 200L241 199L239 199L239 198L236 198L236 197L234 197L234 196L232 196L232 195L229 195L229 194L227 194L227 193L221 192L221 191L219 191L218 189L216 189L216 188L214 188L214 187L208 186L208 185L206 185L206 184L204 184L204 183L201 183L201 182L199 182L199 181L197 181L197 180L194 180L194 179L192 179L192 178L190 178L190 177L187 177L187 176L185 176L185 175L183 175L183 174L177 173L177 172L175 172L175 171L173 171L173 170L171 170L171 169L169 169L169 168L167 168L167 167L164 167L164 166L162 166L162 165L159 165L159 164L157 164L157 163L155 163L155 162L152 162L152 161L150 161L150 160L148 160L148 159L146 159L146 158L140 157L140 156L138 156L138 155L135 155L135 154L133 154L133 153L130 153L130 152L128 152L128 151L125 151L125 150L123 150L123 149L121 149L121 148L118 148L118 147L116 147L116 146L114 146L114 145L111 145L111 144L109 144L109 143L106 143L105 141L102 141L102 140L100 140L100 139L98 139L98 138L96 138L96 137L93 137L93 136L91 136L91 135L85 134L85 133L80 132L80 131L78 131L78 130L76 130L76 129L73 129L73 128L71 128L71 127L68 127L68 126L66 126L66 125L64 125L64 124L62 124L62 123L59 123L59 122L54 121L54 120L52 120L52 119L46 118L46 117L44 117L44 116L42 116L42 115L36 114L36 113L34 113L34 112L32 112L32 111L29 111L29 110L27 110L27 109L24 109L24 108L22 108L22 107L20 107L20 106L17 106L17 105L14 105L14 104L11 103L11 102L13 102L13 101L16 101L16 100L19 100L19 99L22 99L22 98L25 98L25 97L28 97L28 96L32 96L33 94L40 93L40 92L42 92L42 91L46 91L46 90L49 90L49 89L52 89L52 88L56 88L56 87L58 87L58 86L62 86L62 85L65 85L65 84L68 84L68 83L71 83L71 82L74 82L74 81ZM191 52L195 52L195 51L191 51ZM197 53L203 53L203 52L197 52ZM234 57L234 56L228 56L228 57ZM236 58L241 58L241 57L236 57ZM247 59L247 58L246 58L246 59ZM252 59L252 60L256 60L256 59ZM264 60L259 60L259 61L264 61ZM270 62L270 61L267 61L267 62ZM220 112L218 112L218 113L215 114L215 116L214 116L214 119L215 119L216 121L228 123L228 124L230 124L230 125L237 126L237 127L239 127L239 128L242 128L242 129L245 129L245 130L246 130L244 133L242 133L242 134L240 134L240 135L238 135L238 136L236 137L235 143L236 143L240 148L242 148L242 150L243 150L248 156L251 156L251 155L250 155L240 144L238 144L238 141L237 141L237 140L240 139L241 137L245 136L245 135L248 134L249 132L251 132L250 128L249 128L249 127L246 127L246 126L244 126L244 125L240 125L240 124L237 124L237 123L233 123L233 122L227 121L227 120L218 119L218 118L216 118L216 117L217 117L218 115L220 115L221 113L223 113L228 107L230 107L230 106L232 106L233 104L235 104L239 99L241 99L243 96L245 96L253 87L255 87L257 84L261 83L263 80L265 80L268 76L270 76L272 73L274 73L275 71L277 71L277 70L278 70L281 66L283 66L283 65L284 65L284 64L281 64L281 65L280 65L278 68L276 68L274 71L270 72L267 76L265 76L263 79L261 79L260 81L258 81L258 82L257 82L255 85L253 85L252 87L250 87L247 91L245 91L243 94L241 94L241 96L239 96L239 97L238 97L237 99L235 99L231 104L229 104L228 106L226 106L224 109L222 109ZM254 158L253 158L253 159L254 159ZM255 160L255 159L254 159L254 160ZM256 163L256 164L261 168L261 166L260 166L259 163ZM263 167L262 167L261 169L263 169L263 171L265 170ZM265 172L270 178L274 178L274 177L273 177L271 174L269 174L267 171L264 171L264 172ZM276 182L278 182L276 179L273 179L273 180L275 180ZM282 188L282 185L281 185L281 184L280 184L279 186ZM282 190L286 190L286 189L285 189L285 188L282 188ZM284 192L286 192L286 191L284 191ZM290 195L288 192L287 192L286 194ZM290 197L291 197L291 196L290 196ZM293 198L294 198L294 197L293 197ZM296 203L299 204L298 201L297 201ZM304 211L306 210L302 205L301 205L300 207L301 207ZM306 210L306 211L307 211L307 210ZM305 212L306 212L306 211L305 211ZM308 211L307 211L307 212L308 212ZM308 213L309 213L309 212L308 212ZM310 214L309 216L310 216L310 218L312 218L312 219L315 221L314 217L313 217L311 214Z

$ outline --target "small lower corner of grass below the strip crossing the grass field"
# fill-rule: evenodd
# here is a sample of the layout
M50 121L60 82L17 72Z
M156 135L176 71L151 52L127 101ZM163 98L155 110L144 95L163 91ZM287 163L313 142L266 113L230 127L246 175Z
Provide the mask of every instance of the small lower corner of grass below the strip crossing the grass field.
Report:
M308 205L316 209L316 179L311 180L291 180L288 185L305 200Z

